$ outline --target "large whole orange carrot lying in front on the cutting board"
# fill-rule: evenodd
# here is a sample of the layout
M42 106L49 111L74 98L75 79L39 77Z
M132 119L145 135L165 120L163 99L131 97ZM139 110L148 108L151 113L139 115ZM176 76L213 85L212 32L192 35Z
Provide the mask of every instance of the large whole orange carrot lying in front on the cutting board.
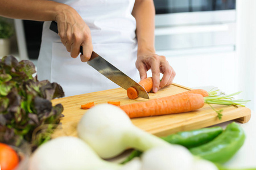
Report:
M139 103L121 105L130 118L195 111L204 106L200 94L181 93Z

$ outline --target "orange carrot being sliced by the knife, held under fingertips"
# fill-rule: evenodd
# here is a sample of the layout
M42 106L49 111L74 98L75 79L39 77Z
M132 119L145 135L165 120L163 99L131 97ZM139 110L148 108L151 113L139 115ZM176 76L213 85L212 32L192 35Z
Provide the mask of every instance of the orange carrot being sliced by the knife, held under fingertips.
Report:
M150 92L153 87L153 79L152 79L152 77L148 77L146 79L141 80L141 82L139 82L139 84L142 87L144 87L144 89L147 92ZM129 87L129 88L127 88L127 96L129 97L129 99L136 99L138 97L138 92L134 87Z

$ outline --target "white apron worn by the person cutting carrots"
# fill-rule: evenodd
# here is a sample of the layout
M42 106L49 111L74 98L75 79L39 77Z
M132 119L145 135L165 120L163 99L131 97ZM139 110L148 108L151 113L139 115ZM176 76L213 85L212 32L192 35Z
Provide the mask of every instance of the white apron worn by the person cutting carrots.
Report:
M93 50L136 82L139 73L136 22L131 15L135 0L55 0L75 8L92 35ZM44 22L42 44L38 59L38 79L48 79L63 87L65 96L118 88L98 73L80 56L72 58L57 33ZM104 97L104 96L102 96Z

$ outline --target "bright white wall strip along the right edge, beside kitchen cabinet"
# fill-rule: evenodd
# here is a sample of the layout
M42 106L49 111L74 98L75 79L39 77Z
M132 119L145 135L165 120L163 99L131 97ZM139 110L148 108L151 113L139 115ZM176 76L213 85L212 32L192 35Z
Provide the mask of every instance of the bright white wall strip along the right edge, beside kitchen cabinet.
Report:
M237 55L240 97L256 110L256 1L237 0Z

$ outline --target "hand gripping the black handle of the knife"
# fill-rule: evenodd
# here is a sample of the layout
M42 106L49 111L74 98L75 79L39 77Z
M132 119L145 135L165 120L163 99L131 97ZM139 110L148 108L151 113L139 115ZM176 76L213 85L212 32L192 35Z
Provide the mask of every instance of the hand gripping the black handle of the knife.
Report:
M87 62L93 51L90 29L81 16L72 7L61 10L56 15L58 31L61 42L65 45L71 57L76 58L82 46L83 54L80 55L82 62Z

